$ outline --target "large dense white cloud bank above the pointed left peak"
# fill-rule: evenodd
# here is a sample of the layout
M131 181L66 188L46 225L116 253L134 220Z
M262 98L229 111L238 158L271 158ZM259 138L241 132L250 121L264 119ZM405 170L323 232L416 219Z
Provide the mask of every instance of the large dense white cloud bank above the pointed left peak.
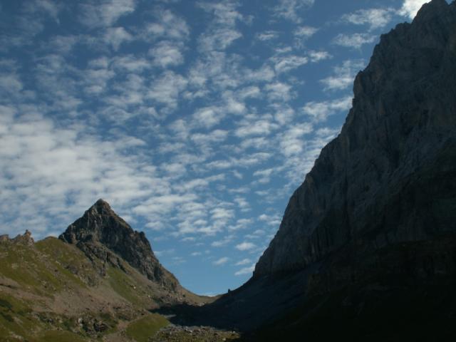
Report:
M11 117L20 113L14 107L2 112L9 118L2 121L0 135L2 231L19 232L33 221L40 237L63 229L61 222L71 222L96 198L122 209L152 191L168 191L150 165L125 154L126 146L143 144L137 138L103 140L83 128L59 128L39 114Z

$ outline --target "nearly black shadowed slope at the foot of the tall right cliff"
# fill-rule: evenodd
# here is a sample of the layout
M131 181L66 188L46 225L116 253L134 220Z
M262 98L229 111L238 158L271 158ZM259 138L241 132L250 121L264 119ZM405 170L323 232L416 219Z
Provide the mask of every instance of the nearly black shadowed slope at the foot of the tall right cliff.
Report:
M346 247L312 269L250 279L212 304L155 311L238 341L455 341L456 239Z

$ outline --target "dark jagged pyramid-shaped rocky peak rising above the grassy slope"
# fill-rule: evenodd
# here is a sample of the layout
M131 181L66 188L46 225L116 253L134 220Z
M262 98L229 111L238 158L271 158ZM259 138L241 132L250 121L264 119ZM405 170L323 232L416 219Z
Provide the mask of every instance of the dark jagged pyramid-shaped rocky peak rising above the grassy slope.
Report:
M103 199L70 224L59 239L76 244L90 260L102 261L100 273L105 271L106 263L123 269L122 258L165 288L175 291L180 287L175 276L155 257L145 234L134 231Z

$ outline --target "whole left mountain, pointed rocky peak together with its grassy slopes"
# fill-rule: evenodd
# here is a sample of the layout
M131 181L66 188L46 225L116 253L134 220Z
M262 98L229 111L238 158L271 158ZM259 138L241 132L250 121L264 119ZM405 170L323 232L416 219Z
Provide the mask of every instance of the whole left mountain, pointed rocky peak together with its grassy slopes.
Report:
M150 311L207 301L102 199L60 239L0 236L1 342L147 341L170 323Z

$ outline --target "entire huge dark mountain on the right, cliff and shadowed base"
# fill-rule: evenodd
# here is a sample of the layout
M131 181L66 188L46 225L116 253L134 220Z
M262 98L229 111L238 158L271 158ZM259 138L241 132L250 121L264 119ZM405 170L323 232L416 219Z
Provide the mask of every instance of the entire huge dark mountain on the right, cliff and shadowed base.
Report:
M353 91L252 279L207 310L255 341L454 340L456 2L381 36Z

